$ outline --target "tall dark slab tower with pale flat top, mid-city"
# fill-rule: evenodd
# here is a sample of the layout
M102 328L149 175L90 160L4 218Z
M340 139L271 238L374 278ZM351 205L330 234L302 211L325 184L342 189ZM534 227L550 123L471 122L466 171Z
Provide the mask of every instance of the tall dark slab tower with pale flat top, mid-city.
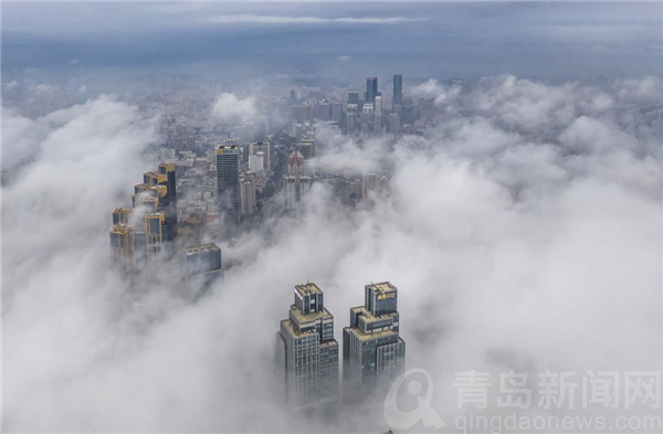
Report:
M236 145L217 148L217 200L224 236L233 236L240 226L240 154Z

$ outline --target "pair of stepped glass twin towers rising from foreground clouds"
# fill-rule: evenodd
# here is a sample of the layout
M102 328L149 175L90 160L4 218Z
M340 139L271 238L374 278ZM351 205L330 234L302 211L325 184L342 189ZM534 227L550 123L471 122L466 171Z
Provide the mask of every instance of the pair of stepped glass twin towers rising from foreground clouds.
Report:
M388 282L366 285L364 306L350 309L343 329L345 387L370 392L404 370L406 342L399 336L398 289ZM295 303L276 334L276 359L288 404L308 406L338 398L338 341L334 316L314 283L295 286Z

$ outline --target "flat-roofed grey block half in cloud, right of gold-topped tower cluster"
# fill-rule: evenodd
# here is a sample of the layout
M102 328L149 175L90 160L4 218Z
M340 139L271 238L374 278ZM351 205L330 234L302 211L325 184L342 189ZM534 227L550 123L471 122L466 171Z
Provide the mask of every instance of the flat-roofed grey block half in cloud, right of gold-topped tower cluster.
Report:
M217 279L223 278L221 248L217 244L187 247L182 254L187 283L194 296L204 294Z

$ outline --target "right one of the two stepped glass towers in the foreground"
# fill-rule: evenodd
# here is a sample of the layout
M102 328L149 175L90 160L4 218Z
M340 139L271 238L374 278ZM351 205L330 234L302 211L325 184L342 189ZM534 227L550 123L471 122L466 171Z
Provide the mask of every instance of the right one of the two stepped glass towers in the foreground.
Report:
M404 370L397 305L398 289L383 282L366 285L364 306L350 309L350 326L343 330L343 360L352 392L387 387Z

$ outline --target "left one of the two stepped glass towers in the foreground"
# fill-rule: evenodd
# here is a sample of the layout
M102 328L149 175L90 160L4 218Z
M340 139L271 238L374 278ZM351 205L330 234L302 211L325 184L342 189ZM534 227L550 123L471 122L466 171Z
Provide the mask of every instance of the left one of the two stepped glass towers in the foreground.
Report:
M276 334L276 360L285 374L290 405L301 407L338 396L338 342L334 316L314 283L295 286L295 303Z

